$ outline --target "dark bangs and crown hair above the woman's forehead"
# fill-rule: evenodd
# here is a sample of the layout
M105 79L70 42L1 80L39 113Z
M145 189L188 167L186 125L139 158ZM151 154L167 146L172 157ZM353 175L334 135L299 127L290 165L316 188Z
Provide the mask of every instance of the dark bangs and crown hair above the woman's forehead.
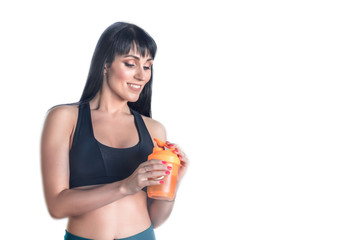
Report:
M130 50L133 50L141 57L151 56L151 58L155 58L156 43L141 28L135 26L125 28L116 34L114 40L114 51L116 54L125 55Z

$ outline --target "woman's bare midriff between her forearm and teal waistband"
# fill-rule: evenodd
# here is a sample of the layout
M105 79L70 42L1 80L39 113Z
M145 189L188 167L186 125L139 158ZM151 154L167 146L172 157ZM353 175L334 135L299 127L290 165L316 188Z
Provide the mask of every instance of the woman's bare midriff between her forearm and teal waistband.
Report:
M83 215L69 217L67 231L83 238L113 240L136 235L150 225L146 193L140 191Z

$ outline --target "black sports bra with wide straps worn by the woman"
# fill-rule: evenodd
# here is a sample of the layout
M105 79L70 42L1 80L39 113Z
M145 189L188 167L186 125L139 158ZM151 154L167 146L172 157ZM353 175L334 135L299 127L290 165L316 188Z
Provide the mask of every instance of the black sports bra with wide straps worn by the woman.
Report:
M79 105L69 152L70 188L123 180L147 160L154 147L153 141L141 115L130 111L134 115L139 142L130 148L113 148L95 139L89 103Z

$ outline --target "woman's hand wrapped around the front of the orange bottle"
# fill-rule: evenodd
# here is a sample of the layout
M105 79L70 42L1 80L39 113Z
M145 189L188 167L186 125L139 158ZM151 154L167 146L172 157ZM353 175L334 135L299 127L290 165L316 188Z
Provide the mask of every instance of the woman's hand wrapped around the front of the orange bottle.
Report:
M140 164L130 177L123 180L125 193L132 195L144 187L160 185L163 181L155 179L168 174L170 174L170 172L166 166L166 162L158 159L146 161Z

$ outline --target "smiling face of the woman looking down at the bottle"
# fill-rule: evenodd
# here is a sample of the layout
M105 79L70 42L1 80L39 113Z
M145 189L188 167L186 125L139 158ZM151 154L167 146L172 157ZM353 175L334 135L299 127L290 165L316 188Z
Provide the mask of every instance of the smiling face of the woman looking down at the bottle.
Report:
M151 77L150 56L141 57L130 50L126 55L115 56L110 67L105 68L105 78L109 89L121 100L136 102Z

